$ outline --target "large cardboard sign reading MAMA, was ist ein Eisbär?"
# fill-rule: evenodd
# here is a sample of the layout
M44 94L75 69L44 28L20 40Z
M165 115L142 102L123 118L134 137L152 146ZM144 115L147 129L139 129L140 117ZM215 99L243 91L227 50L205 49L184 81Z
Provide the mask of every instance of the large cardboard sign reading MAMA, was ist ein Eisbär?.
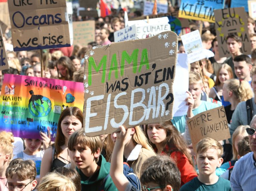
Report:
M118 131L120 125L172 119L178 36L157 36L93 47L84 64L84 129L87 136Z

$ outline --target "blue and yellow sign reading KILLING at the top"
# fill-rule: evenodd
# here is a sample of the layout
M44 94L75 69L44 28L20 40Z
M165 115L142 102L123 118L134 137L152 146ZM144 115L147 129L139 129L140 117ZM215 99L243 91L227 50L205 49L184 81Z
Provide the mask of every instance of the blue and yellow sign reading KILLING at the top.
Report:
M224 3L224 0L182 0L179 17L214 23L214 9L223 9Z

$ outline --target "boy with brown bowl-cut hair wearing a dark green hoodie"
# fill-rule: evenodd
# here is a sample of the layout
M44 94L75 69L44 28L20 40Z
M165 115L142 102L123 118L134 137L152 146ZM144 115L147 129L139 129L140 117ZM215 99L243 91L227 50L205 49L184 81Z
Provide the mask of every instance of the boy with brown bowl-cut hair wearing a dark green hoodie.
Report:
M87 137L81 129L69 137L67 146L81 176L82 190L117 191L109 176L110 163L100 154L102 143L99 137Z

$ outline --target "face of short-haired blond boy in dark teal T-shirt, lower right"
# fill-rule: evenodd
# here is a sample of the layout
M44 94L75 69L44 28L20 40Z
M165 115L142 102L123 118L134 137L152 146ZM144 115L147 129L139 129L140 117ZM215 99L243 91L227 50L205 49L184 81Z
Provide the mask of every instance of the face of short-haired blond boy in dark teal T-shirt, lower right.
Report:
M211 175L215 173L217 167L220 167L223 158L219 158L218 150L209 148L205 152L197 154L196 163L200 174Z

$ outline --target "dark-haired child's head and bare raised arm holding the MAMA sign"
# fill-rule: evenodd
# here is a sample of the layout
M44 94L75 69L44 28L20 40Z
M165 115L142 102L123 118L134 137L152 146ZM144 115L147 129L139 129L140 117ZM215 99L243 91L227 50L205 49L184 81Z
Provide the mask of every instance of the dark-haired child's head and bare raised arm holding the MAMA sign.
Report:
M110 176L119 191L138 191L123 174L124 140L128 134L123 126L119 128L121 132L117 133L111 158ZM147 164L146 170L141 175L144 190L178 191L180 189L181 174L169 156L152 156L148 160L151 161L150 165Z

